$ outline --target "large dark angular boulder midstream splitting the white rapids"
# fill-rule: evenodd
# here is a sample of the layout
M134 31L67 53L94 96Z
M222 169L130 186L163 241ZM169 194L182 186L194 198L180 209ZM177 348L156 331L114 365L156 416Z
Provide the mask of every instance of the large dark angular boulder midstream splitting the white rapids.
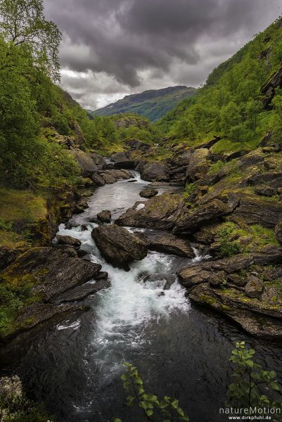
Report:
M115 224L96 227L92 237L105 259L115 267L129 270L129 262L143 260L148 252L145 242Z

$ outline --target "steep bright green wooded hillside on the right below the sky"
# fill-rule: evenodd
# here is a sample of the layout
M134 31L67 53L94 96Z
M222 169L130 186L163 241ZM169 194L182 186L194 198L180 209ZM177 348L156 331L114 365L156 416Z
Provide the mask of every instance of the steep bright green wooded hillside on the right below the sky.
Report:
M233 57L215 68L195 96L162 117L164 134L189 144L217 134L217 148L252 149L271 131L281 136L282 20L260 32Z

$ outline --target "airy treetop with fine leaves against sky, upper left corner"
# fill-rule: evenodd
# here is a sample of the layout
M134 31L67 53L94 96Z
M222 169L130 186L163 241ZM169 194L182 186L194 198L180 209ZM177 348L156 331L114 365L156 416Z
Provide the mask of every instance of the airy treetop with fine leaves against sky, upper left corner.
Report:
M5 41L30 49L34 65L60 80L58 48L61 33L44 16L43 0L0 0L0 33Z

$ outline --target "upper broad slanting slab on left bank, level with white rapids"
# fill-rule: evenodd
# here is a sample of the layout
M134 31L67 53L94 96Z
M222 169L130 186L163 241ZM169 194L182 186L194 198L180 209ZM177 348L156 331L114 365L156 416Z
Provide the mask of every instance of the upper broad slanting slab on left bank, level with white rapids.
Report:
M23 279L33 284L34 295L45 301L69 288L94 279L101 270L100 264L81 260L75 248L58 245L53 248L31 248L17 257L1 274L4 281ZM24 281L24 280L27 281Z

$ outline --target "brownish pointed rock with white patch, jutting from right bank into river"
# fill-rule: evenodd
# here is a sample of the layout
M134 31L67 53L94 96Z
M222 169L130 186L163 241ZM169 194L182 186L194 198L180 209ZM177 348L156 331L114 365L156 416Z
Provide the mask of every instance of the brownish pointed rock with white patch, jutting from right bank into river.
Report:
M163 193L143 203L135 203L134 207L124 212L115 223L119 226L169 230L175 226L185 208L181 195Z

